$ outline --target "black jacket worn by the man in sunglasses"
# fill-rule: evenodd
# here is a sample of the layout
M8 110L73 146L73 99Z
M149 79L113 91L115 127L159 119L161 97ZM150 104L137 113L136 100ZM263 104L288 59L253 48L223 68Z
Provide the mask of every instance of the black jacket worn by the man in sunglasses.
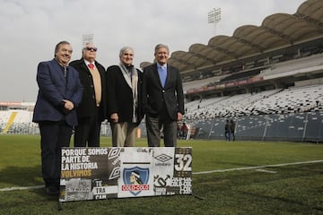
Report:
M92 116L96 108L96 100L95 100L94 84L92 81L92 74L90 72L90 69L85 64L83 58L81 58L80 60L75 60L71 62L70 65L72 65L79 72L80 79L84 87L81 104L76 109L77 117L84 118L84 117ZM105 68L97 61L95 61L95 66L99 70L100 79L101 79L101 101L100 101L99 119L102 122L106 118L105 112L107 108L106 99L105 99L107 96Z

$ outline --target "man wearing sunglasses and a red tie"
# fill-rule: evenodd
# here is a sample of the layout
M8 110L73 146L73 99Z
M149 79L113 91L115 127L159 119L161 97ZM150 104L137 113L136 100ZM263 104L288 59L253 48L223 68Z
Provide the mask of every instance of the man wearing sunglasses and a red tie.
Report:
M82 102L77 107L78 125L75 126L74 146L100 146L100 125L105 119L106 79L105 68L95 58L97 47L87 43L82 58L70 63L80 75L83 84Z

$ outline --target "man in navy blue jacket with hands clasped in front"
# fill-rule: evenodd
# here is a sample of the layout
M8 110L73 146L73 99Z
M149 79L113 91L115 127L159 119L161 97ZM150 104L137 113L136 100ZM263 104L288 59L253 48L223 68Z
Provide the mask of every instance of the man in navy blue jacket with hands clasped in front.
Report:
M39 124L41 172L48 194L58 194L61 148L69 146L73 126L77 125L75 107L83 94L79 73L68 65L72 52L71 45L61 41L55 48L55 58L38 65L39 94L32 120Z

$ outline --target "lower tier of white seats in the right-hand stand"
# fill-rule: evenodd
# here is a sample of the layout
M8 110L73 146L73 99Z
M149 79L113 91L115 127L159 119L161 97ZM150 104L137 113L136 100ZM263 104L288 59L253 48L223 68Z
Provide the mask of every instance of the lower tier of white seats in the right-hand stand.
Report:
M188 108L185 117L187 120L198 120L196 117L201 115L213 118L321 111L322 102L323 84L292 87L204 99L197 103L199 108ZM189 102L188 107L192 107L190 103L196 106L196 101Z

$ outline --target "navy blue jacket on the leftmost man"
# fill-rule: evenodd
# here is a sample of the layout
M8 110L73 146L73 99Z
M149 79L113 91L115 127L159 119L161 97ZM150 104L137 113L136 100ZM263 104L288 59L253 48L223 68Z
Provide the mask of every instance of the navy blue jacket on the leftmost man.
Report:
M33 122L40 121L63 121L68 125L77 125L75 107L82 99L83 85L79 73L72 67L66 68L66 80L64 68L58 64L56 59L41 62L38 65L37 82L39 94L36 101ZM68 113L62 111L62 100L73 102L74 109Z

